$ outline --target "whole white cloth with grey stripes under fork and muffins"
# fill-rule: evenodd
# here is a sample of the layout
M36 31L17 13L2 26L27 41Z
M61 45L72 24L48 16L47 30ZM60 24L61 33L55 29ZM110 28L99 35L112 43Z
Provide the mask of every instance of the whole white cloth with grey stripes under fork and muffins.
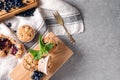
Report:
M20 17L15 16L9 20L6 20L4 23L12 23L11 30L12 32L16 32L19 27L22 25L30 25L35 29L36 38L29 43L25 43L26 48L33 48L36 45L37 38L39 34L45 34L49 31L52 31L56 35L65 35L66 32L64 29L57 24L55 18L53 17L53 13L58 11L64 19L65 27L71 34L80 33L84 31L83 20L80 12L64 2L63 0L40 0L41 5L35 10L34 16L31 17ZM0 24L0 33L4 33L10 37L15 37L12 32L5 26L3 23ZM14 58L10 58L14 60ZM0 58L0 80L10 80L7 76L8 72L16 65L17 61L11 65L10 63L6 63L9 60L8 58ZM9 61L11 61L9 60ZM13 61L12 61L13 62ZM6 64L3 64L6 63ZM2 66L3 64L3 66ZM4 66L8 66L4 67ZM2 70L1 70L2 69Z

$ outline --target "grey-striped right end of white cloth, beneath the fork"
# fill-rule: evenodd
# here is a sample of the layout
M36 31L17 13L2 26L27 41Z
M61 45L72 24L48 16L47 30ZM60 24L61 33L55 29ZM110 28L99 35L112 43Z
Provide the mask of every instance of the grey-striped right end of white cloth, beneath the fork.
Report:
M58 25L53 13L58 11L63 17L65 27L71 34L80 33L84 31L83 20L80 12L73 6L64 2L63 0L41 0L39 6L45 23L48 25L49 31L56 35L65 35L65 30Z

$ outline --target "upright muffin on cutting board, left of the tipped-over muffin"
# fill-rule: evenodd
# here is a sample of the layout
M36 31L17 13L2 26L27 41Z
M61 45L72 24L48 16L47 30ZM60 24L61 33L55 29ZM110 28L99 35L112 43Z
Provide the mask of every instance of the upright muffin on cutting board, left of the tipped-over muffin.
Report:
M34 57L29 53L24 56L22 64L29 71L38 70L38 60L34 60Z

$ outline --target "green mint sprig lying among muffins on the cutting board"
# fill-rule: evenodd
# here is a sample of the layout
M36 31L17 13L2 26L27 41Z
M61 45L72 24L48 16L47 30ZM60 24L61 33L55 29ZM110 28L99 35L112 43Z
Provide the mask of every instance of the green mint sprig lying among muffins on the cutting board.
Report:
M43 54L48 54L48 52L53 48L52 43L44 43L42 40L42 35L39 36L39 46L40 50L30 49L29 52L32 54L35 60L42 58Z

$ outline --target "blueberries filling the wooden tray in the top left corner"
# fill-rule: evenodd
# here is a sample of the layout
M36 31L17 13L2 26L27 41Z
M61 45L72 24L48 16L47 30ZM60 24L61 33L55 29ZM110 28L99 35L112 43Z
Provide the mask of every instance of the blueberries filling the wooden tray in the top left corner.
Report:
M6 12L9 12L11 9L20 8L25 6L22 0L0 0L0 10L4 9Z

